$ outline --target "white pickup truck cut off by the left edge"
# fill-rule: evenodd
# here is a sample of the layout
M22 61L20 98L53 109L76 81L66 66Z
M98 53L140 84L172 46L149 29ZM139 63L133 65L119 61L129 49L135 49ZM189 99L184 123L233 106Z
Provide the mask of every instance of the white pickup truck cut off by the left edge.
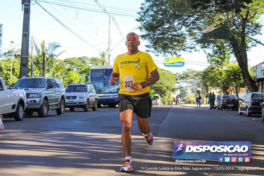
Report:
M0 111L3 117L13 115L16 121L21 121L26 109L26 92L22 87L6 87L0 77Z

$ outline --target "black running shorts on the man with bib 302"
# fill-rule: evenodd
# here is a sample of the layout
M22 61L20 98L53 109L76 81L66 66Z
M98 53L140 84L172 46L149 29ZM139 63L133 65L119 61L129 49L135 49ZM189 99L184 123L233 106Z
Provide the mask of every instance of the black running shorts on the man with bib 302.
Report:
M148 118L151 113L151 98L149 93L140 95L119 94L117 98L119 113L125 110L134 110L140 118Z

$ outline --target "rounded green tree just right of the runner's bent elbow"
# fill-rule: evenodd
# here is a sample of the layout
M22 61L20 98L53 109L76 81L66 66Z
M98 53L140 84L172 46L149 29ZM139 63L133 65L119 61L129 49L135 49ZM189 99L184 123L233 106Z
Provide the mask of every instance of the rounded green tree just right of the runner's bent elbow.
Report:
M175 91L173 85L176 84L176 77L169 70L158 68L158 72L159 80L152 85L152 88L161 96L161 100L166 103L169 93Z

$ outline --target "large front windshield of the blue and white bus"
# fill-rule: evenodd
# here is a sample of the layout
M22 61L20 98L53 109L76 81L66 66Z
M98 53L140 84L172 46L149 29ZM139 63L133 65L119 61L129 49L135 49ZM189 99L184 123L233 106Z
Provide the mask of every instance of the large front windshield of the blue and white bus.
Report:
M91 82L95 84L95 89L98 94L119 92L119 80L116 82L116 85L109 84L109 79L112 72L113 69L90 70Z

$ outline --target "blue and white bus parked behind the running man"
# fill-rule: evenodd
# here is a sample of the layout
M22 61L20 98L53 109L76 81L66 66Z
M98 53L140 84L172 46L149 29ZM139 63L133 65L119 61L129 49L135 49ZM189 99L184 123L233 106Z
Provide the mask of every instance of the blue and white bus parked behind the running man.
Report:
M85 80L94 84L97 97L98 108L102 105L108 105L109 107L116 107L117 97L119 92L120 80L116 82L116 85L110 85L109 79L113 72L112 65L102 65L90 68L90 73L86 75Z

